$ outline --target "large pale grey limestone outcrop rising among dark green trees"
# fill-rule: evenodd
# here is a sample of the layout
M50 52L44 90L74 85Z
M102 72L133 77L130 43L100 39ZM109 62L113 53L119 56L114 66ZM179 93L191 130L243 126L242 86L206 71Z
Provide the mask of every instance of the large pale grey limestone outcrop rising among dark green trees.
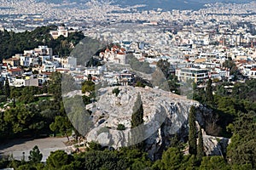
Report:
M156 159L161 150L170 144L174 134L178 133L182 139L188 137L191 105L201 110L197 113L197 121L201 126L205 123L204 117L210 114L204 111L207 109L200 103L160 89L118 87L120 92L116 95L112 92L113 88L117 87L99 89L97 101L86 106L94 107L91 109L94 128L85 136L89 142L96 141L104 146L119 148L145 140L148 155ZM131 115L134 113L137 94L141 95L143 101L143 125L131 129ZM117 130L119 124L124 125L125 130ZM216 144L210 143L210 138L207 141L211 145L207 147L208 153L214 150Z

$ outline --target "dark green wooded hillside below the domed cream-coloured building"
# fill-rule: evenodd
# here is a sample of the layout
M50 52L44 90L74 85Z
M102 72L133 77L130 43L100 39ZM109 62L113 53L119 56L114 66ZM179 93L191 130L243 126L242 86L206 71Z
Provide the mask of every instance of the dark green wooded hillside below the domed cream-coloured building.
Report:
M82 32L73 32L68 37L61 36L53 39L49 35L49 31L56 28L56 26L42 26L33 31L21 33L0 31L0 60L10 58L15 54L22 54L24 50L37 48L38 45L47 45L49 48L53 48L54 54L67 56L73 47L84 39Z

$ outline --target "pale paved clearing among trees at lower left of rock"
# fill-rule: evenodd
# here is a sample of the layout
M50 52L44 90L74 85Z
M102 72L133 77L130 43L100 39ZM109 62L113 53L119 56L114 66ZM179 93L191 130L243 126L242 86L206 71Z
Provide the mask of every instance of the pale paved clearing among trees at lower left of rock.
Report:
M70 152L70 147L67 147L63 142L67 142L67 138L45 138L45 139L19 139L11 140L6 144L0 144L0 155L9 156L13 154L14 158L20 160L22 153L25 152L25 159L28 160L29 151L35 145L38 145L39 150L43 154L43 160L46 161L51 151L66 150Z

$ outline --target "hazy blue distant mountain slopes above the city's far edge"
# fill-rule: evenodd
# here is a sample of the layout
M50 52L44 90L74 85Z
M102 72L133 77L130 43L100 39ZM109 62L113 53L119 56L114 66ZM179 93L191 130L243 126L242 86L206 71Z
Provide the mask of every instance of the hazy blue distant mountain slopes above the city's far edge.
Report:
M38 0L47 3L63 3L62 0ZM90 0L66 0L71 3L87 3ZM114 4L131 6L136 4L145 4L144 9L163 8L172 9L199 9L203 8L206 3L249 3L253 0L114 0Z

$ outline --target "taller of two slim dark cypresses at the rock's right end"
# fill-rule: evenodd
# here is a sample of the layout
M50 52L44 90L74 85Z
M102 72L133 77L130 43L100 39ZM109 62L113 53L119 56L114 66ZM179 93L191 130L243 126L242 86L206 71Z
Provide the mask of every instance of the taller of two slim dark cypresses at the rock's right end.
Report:
M196 125L194 105L190 107L189 111L189 154L196 155Z

